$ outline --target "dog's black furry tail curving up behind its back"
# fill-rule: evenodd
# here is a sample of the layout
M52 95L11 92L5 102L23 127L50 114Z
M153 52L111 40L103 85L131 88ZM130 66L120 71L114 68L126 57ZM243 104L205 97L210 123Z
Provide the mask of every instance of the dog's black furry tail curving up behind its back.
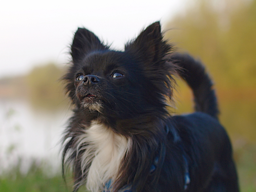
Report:
M215 91L212 89L213 83L201 62L188 54L180 53L173 53L171 60L181 68L180 76L193 91L195 110L218 119L219 110Z

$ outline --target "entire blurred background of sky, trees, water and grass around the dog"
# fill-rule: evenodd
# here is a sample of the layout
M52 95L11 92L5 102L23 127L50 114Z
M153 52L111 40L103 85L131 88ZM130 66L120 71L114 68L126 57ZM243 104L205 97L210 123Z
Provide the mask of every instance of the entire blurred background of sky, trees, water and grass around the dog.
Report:
M10 1L0 7L0 191L71 191L61 177L71 116L61 76L77 27L123 50L160 20L164 38L213 78L242 192L256 192L256 0ZM178 81L176 114L193 111ZM82 191L82 190L80 190Z

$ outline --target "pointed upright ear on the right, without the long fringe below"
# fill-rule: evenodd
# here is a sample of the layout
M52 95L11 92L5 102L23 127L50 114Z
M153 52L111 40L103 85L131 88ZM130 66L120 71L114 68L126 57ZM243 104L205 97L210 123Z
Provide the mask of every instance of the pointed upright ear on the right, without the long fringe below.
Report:
M171 46L163 41L160 22L148 26L131 43L125 46L125 51L139 54L143 61L157 62L171 50Z

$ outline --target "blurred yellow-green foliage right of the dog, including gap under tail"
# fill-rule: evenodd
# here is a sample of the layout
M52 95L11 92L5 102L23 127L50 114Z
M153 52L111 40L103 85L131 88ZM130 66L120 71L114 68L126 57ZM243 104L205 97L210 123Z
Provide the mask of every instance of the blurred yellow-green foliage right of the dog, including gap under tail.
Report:
M201 60L212 76L220 121L234 148L241 191L256 191L256 0L197 0L165 24L178 52ZM178 82L176 113L193 111ZM173 109L171 109L173 111Z

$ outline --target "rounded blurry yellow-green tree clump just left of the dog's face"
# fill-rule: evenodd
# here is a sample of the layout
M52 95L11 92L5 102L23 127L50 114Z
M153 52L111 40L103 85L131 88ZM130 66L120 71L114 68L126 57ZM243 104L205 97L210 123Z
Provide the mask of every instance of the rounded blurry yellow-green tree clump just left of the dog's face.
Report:
M61 81L65 69L54 63L34 68L28 76L28 96L34 107L59 109L67 106L64 82Z

